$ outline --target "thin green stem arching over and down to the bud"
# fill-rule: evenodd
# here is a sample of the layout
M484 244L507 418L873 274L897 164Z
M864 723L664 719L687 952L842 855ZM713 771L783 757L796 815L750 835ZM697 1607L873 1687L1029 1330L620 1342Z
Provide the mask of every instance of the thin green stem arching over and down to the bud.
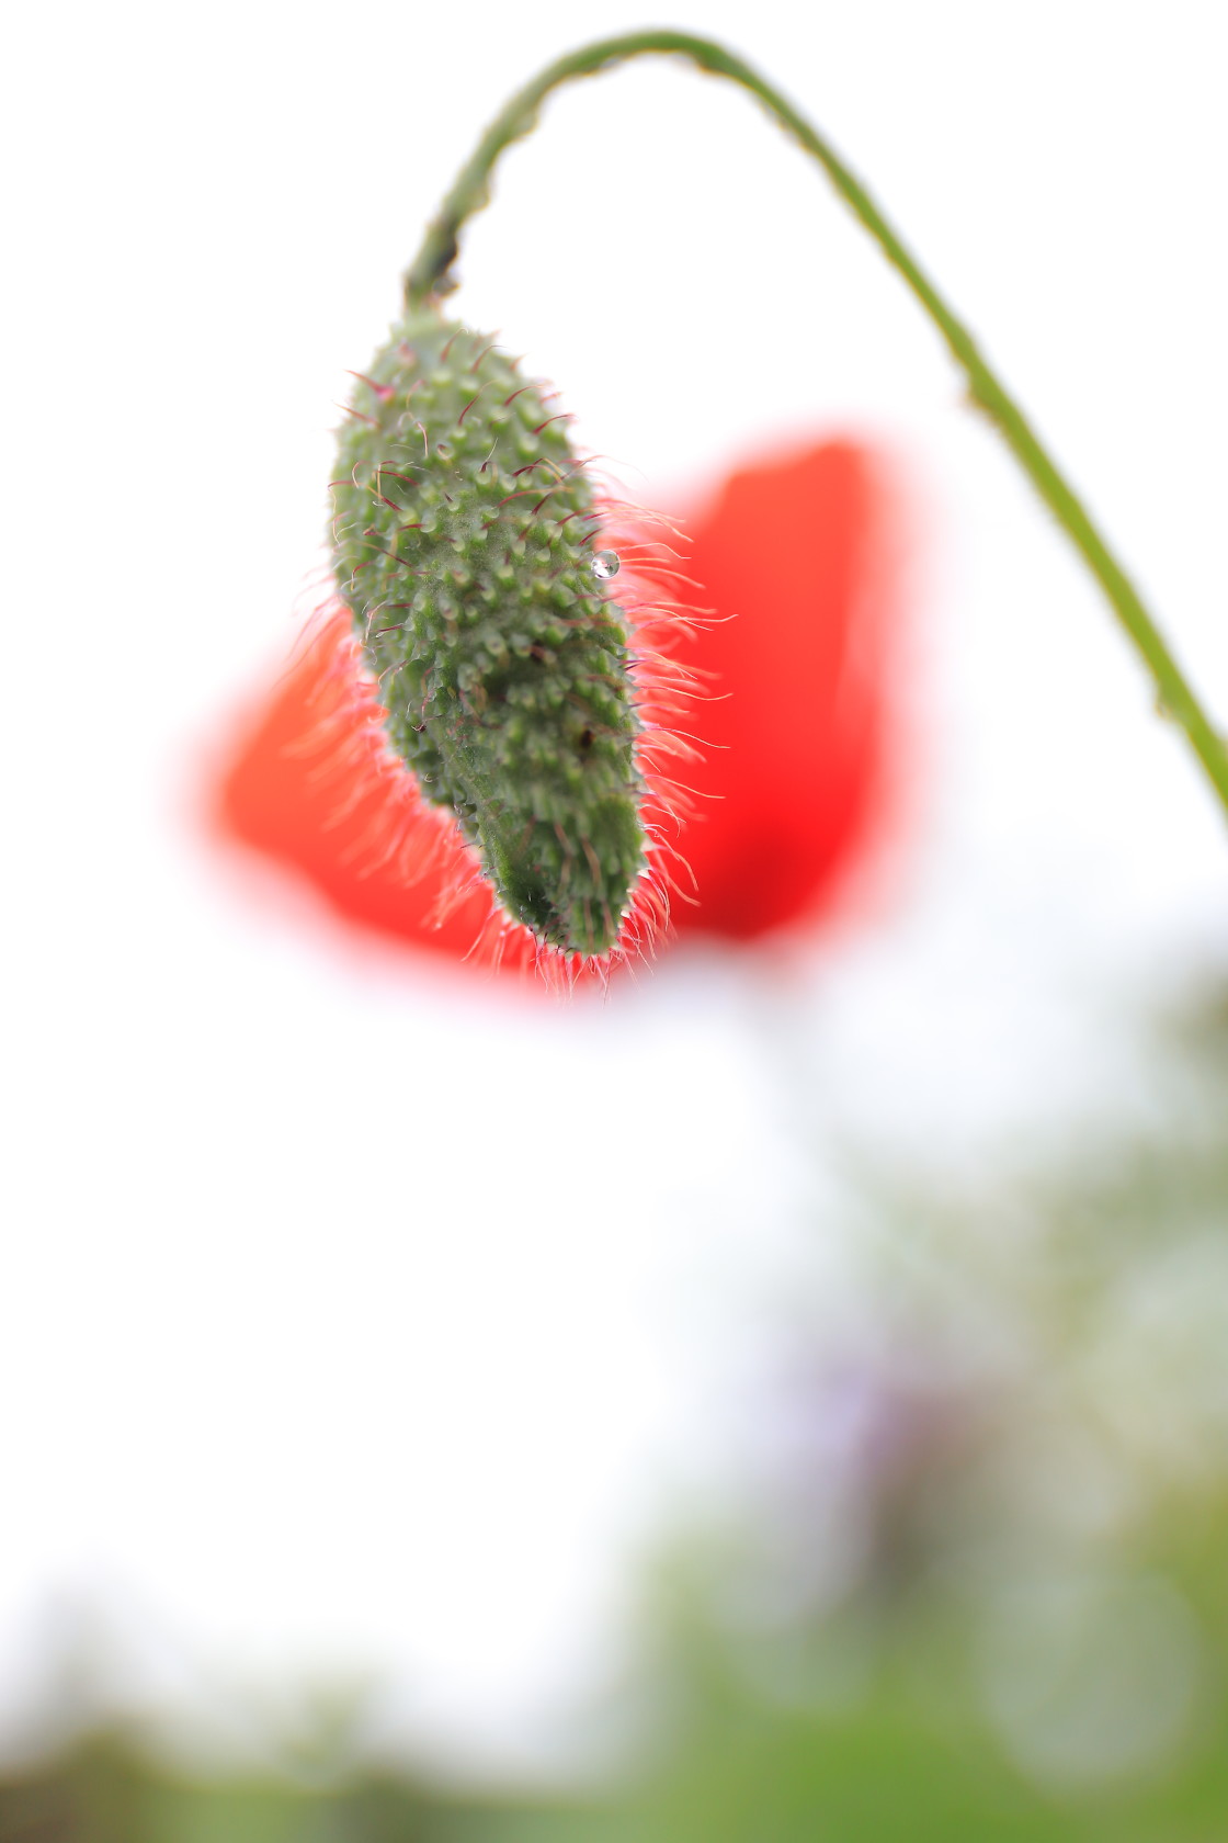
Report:
M1173 717L1186 732L1189 745L1206 769L1206 774L1228 811L1228 750L1222 737L1211 726L1186 675L1169 652L1156 623L1149 616L1143 601L1121 568L1105 538L1095 529L1086 507L1064 477L1057 463L1046 453L1040 439L1027 422L1009 391L981 358L968 328L952 313L933 282L926 276L915 258L898 240L887 219L882 216L865 186L849 171L838 153L797 114L779 90L775 90L759 72L744 65L724 46L709 39L694 39L685 31L633 31L619 39L598 39L543 70L532 83L525 85L503 112L492 122L477 146L473 158L457 177L455 186L444 199L438 217L427 229L422 249L405 276L405 299L414 304L433 295L446 295L457 284L451 267L457 260L457 240L468 217L479 212L490 197L490 173L499 155L514 140L528 135L538 120L538 111L550 90L573 77L595 76L630 57L644 53L674 53L690 59L700 70L718 77L729 77L751 96L757 96L781 127L797 140L812 158L819 162L836 192L860 217L862 225L875 238L887 262L898 269L913 295L926 310L937 330L943 334L952 358L968 380L972 402L989 417L1007 448L1020 463L1029 481L1049 507L1059 525L1075 546L1088 569L1108 597L1121 627L1134 641L1156 686L1160 708Z

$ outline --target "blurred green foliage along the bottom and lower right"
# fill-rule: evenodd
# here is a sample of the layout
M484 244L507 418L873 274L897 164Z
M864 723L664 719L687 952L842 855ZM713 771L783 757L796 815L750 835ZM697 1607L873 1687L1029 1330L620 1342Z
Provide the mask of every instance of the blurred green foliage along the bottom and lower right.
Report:
M782 1329L766 1458L646 1587L620 1775L190 1782L94 1732L9 1769L0 1843L1222 1843L1222 995L1123 1067L1014 1174L851 1187L838 1334Z

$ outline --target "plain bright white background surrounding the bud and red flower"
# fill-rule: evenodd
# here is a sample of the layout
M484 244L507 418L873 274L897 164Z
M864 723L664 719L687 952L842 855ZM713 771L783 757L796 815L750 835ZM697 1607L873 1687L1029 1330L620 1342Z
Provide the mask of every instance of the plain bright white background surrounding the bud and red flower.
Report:
M661 20L729 39L869 181L1221 717L1226 18ZM674 63L550 105L458 306L648 503L790 435L895 455L908 798L856 925L550 1006L355 947L203 842L422 225L512 85L643 22L7 28L4 1734L90 1607L127 1694L195 1720L370 1673L390 1732L539 1756L773 1288L830 1255L806 1141L943 1157L1070 1119L1121 1060L1119 993L1221 955L1222 818L1094 586L821 177Z

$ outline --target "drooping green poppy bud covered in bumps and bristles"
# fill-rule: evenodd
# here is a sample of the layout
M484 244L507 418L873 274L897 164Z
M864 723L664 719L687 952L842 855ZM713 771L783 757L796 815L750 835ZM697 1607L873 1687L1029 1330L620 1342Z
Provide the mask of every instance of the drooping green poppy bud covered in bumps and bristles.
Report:
M611 953L648 864L641 719L567 418L493 339L411 308L357 378L333 494L390 748L514 922Z

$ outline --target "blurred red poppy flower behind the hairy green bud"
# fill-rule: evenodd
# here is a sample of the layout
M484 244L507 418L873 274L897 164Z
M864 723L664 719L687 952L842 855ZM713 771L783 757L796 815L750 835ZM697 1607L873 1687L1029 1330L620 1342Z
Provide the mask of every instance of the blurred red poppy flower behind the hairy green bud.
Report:
M891 496L865 446L828 440L731 474L689 520L685 617L694 675L687 815L670 848L668 938L751 942L814 920L880 813L891 638ZM237 737L215 818L306 877L352 923L473 957L492 903L455 824L418 802L379 743L337 605ZM528 936L504 968L534 960Z

